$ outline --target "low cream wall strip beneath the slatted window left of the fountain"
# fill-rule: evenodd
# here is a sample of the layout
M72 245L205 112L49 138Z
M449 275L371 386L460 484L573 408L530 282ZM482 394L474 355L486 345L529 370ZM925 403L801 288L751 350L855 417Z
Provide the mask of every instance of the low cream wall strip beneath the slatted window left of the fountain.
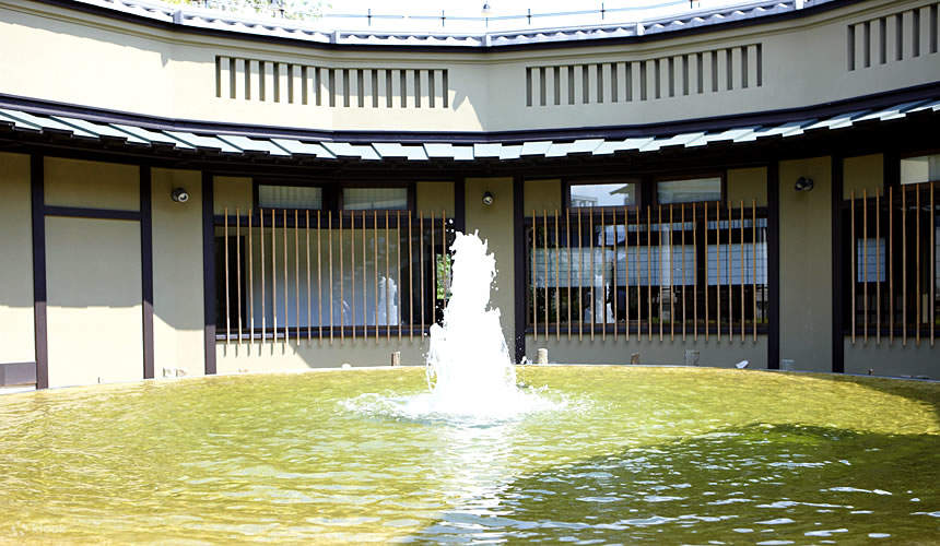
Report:
M392 335L390 341L381 336L378 342L373 339L351 340L341 342L333 340L301 340L289 343L270 340L242 346L235 341L215 344L215 365L219 373L237 373L245 371L303 370L309 368L338 368L343 364L351 366L390 366L391 353L401 352L402 366L424 364L427 352L426 340L415 337L411 341L402 336L401 342Z

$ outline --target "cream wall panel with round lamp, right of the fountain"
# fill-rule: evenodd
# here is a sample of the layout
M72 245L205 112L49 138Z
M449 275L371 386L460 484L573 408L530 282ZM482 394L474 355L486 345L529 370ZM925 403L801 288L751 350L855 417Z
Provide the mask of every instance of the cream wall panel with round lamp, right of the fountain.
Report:
M780 358L832 371L832 167L829 157L780 162ZM812 191L794 182L812 178Z

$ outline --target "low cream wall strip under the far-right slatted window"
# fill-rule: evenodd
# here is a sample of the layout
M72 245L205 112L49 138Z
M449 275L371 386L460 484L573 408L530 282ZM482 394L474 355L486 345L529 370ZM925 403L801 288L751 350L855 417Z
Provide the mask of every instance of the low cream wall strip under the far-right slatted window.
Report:
M940 349L931 347L930 342L913 340L907 345L895 340L893 344L882 342L865 344L861 341L845 340L845 371L847 373L871 373L876 376L926 376L940 379Z

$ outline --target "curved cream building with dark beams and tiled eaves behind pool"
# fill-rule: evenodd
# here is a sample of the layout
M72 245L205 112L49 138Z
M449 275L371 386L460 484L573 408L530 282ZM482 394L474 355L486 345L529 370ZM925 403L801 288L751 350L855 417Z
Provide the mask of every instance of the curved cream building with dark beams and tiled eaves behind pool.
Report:
M940 3L491 34L0 0L0 384L515 357L940 376Z

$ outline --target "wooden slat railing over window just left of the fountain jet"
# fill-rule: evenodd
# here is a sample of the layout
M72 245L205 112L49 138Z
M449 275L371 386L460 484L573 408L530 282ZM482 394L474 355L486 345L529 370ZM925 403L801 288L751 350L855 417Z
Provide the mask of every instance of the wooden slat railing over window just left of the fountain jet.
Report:
M226 343L413 340L446 302L444 211L226 209L215 229Z

